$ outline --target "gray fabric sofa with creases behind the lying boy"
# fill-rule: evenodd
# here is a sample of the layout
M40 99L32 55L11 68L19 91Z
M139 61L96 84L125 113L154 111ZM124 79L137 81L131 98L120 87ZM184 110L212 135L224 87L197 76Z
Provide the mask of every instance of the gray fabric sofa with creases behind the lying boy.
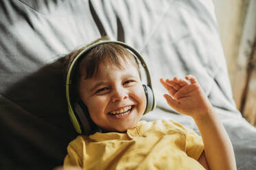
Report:
M256 167L256 129L236 109L211 1L0 1L0 169L53 169L77 136L67 113L63 56L108 35L135 47L157 108L143 119L194 121L163 99L160 77L195 75L216 108L237 169Z

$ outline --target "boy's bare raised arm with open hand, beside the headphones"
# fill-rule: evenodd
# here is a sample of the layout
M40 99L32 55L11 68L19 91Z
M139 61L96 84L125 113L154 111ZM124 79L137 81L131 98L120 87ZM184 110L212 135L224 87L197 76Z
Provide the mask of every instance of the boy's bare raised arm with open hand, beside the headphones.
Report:
M211 170L236 169L231 141L213 106L195 77L187 75L185 79L189 80L190 84L177 77L173 80L161 79L161 83L170 93L164 95L167 103L177 112L192 117L198 126L205 146L205 153L198 161L202 163L205 154L206 165L208 164Z

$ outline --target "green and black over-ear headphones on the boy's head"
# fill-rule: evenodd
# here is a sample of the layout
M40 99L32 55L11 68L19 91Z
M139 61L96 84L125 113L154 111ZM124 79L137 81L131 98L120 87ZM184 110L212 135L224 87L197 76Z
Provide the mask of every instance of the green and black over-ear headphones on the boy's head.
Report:
M88 53L91 49L96 47L97 45L103 45L106 43L114 43L117 45L121 45L122 47L125 47L126 49L129 49L134 54L133 56L136 56L139 61L141 62L141 65L146 71L146 77L147 77L147 85L143 84L143 88L146 94L147 104L146 104L146 110L143 114L146 114L156 107L156 100L154 99L154 93L152 90L152 83L150 79L150 72L148 71L148 67L146 65L146 62L143 60L141 55L132 47L126 45L126 43L121 41L113 41L113 40L100 40L100 42L96 42L93 45L89 45L89 47L86 47L84 50L82 50L78 55L73 59L71 62L69 69L67 71L67 81L66 81L66 97L67 97L67 105L68 105L68 111L69 111L69 117L71 119L71 122L73 123L73 126L75 127L75 131L79 134L93 134L94 132L100 132L100 127L97 127L95 123L91 120L91 117L89 115L89 110L84 105L82 101L74 101L71 102L71 83L73 74L75 73L75 66L78 65L78 61L81 60L86 53Z

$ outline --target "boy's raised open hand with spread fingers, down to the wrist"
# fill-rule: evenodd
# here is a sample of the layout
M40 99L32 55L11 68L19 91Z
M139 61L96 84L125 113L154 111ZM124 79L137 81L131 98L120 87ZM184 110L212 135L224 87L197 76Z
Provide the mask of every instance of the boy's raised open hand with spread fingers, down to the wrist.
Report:
M189 82L174 77L174 79L160 82L170 95L163 95L167 103L181 114L186 114L194 119L200 118L211 110L211 104L196 78L192 75L185 77Z

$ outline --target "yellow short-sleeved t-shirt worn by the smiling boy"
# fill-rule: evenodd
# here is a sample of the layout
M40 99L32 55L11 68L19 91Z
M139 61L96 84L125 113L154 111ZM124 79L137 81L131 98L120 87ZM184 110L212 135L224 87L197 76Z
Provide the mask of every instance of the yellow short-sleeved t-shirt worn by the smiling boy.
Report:
M67 147L64 167L200 170L203 149L202 138L179 123L139 121L125 133L78 136Z

